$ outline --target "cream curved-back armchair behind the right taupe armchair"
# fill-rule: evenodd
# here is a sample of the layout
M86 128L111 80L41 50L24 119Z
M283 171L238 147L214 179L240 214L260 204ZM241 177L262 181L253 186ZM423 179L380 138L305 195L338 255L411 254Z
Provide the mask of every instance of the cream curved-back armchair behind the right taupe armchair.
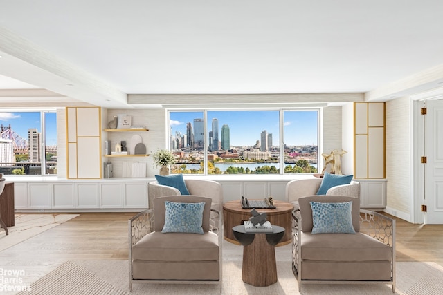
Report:
M305 196L314 196L317 194L322 178L306 178L291 180L286 184L285 196L287 202L294 205L298 209L298 199ZM334 196L350 196L360 198L360 184L354 180L350 184L337 185L327 190L326 195Z

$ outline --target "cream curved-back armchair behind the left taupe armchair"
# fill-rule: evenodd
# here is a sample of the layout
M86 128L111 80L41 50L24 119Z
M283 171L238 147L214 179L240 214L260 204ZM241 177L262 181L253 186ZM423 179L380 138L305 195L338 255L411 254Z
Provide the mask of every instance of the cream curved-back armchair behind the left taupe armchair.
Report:
M219 182L213 180L186 179L186 188L191 195L206 196L213 200L212 208L221 212L223 206L223 189ZM161 196L180 196L181 193L174 187L168 187L153 181L147 184L147 196L150 208L152 208L152 200Z

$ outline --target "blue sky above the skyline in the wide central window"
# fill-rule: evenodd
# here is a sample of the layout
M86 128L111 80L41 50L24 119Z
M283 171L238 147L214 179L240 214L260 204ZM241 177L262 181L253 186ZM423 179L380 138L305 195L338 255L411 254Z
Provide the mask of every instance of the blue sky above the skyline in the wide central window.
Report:
M317 145L317 117L318 111L284 111L284 143ZM172 133L180 131L186 134L186 123L193 123L195 118L203 118L203 112L170 112ZM233 146L254 145L264 130L272 133L274 146L280 140L279 111L208 111L208 132L212 129L213 118L219 121L219 134L221 126L228 124L230 145Z

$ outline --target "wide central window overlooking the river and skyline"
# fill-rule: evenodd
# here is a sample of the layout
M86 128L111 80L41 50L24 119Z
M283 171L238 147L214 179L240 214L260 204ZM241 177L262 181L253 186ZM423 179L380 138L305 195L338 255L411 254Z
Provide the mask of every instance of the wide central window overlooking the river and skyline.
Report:
M318 109L169 111L172 173L316 173Z

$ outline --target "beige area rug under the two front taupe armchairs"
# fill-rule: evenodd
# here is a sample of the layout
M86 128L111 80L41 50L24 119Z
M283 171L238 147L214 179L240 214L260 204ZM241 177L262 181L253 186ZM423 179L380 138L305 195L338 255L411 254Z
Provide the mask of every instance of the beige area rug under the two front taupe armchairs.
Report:
M221 294L300 294L289 261L278 261L278 282L253 287L242 281L241 261L225 261ZM443 267L436 263L397 263L396 294L443 294ZM219 294L218 285L134 284L129 292L126 260L71 260L31 284L32 294ZM301 294L392 294L390 285L303 285Z

